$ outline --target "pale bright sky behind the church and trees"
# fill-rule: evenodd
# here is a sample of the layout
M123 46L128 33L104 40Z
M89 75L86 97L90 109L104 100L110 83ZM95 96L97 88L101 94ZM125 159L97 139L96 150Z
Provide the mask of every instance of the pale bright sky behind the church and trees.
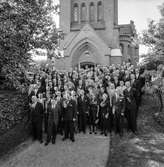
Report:
M58 0L55 0L58 2ZM118 0L118 21L119 24L128 24L133 20L137 33L147 29L148 21L158 21L161 17L158 6L164 0ZM58 21L58 18L55 20ZM147 53L148 49L140 46L140 55Z

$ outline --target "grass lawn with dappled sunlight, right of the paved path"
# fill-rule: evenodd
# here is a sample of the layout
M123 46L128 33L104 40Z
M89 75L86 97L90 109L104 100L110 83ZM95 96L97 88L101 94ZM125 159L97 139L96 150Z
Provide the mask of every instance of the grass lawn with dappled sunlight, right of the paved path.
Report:
M156 99L143 98L137 136L112 136L106 167L164 167L163 128L153 118L157 104Z

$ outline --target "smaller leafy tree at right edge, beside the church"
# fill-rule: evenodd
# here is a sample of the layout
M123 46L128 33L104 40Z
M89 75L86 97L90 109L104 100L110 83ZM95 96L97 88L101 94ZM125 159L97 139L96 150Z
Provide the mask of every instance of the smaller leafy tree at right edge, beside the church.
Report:
M164 3L159 7L162 18L164 18ZM150 61L163 62L164 61L164 21L159 22L151 20L148 24L148 29L143 31L142 44L150 49L147 55Z

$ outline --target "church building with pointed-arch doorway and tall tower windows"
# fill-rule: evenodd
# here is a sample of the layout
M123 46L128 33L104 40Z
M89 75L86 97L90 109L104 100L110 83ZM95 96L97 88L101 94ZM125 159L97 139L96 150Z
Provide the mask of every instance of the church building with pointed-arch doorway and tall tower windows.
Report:
M118 25L118 0L60 0L59 70L121 64L139 57L133 21Z

